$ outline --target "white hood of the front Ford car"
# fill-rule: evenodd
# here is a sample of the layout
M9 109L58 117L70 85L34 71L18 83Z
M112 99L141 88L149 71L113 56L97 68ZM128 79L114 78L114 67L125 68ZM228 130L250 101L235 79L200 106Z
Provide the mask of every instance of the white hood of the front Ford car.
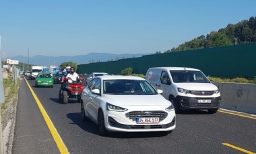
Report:
M170 106L162 95L104 95L104 100L113 105L122 106Z

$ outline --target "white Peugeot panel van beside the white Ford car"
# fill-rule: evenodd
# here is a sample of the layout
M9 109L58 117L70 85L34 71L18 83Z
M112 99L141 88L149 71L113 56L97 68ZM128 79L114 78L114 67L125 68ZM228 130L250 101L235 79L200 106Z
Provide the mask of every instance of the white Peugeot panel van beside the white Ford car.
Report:
M146 80L162 96L174 104L175 111L207 109L215 113L220 108L220 91L200 70L194 68L159 67L149 68Z

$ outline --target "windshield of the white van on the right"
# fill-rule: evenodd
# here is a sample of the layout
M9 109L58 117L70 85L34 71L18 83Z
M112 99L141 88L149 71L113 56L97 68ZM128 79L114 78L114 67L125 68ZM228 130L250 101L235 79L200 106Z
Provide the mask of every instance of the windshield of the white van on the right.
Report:
M170 70L172 81L175 83L210 83L201 71L191 70Z

